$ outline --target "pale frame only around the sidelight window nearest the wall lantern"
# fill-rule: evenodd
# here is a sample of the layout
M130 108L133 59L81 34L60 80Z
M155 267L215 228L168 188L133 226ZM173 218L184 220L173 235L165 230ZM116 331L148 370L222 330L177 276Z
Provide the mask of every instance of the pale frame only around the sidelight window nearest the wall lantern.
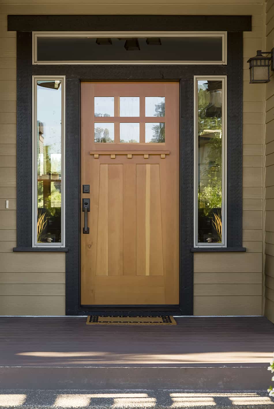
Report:
M198 243L198 81L222 81L222 243ZM227 76L194 76L194 247L227 247Z

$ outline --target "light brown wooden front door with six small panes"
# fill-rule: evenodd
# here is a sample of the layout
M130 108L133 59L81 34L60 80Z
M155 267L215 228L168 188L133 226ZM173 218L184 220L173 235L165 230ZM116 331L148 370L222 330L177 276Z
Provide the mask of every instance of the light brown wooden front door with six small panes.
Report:
M177 82L81 84L81 184L81 304L178 304Z

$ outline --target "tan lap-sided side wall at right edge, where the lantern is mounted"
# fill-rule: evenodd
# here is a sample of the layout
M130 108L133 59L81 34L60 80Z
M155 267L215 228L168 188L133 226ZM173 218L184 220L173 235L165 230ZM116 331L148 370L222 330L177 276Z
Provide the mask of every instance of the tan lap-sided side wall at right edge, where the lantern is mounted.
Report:
M274 47L274 1L266 4L266 49ZM265 102L265 315L274 322L274 76Z

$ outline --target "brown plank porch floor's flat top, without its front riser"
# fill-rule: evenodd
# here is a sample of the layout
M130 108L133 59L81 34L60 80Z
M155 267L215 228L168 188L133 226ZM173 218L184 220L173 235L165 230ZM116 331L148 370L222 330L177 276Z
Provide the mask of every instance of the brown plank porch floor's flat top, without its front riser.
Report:
M84 317L0 317L0 366L248 366L270 362L265 317L177 318L177 326L87 326Z

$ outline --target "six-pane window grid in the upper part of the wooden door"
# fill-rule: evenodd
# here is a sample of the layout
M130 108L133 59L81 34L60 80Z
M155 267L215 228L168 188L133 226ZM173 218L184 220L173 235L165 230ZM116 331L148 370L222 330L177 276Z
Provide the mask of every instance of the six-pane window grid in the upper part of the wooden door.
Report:
M165 97L94 97L94 142L164 143Z

